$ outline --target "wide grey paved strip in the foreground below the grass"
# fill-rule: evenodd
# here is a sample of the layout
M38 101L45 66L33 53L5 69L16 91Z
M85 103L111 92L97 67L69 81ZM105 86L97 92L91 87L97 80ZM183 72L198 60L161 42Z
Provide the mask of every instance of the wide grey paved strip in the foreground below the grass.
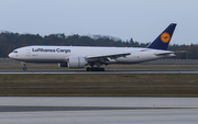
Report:
M0 97L1 124L196 124L198 98Z

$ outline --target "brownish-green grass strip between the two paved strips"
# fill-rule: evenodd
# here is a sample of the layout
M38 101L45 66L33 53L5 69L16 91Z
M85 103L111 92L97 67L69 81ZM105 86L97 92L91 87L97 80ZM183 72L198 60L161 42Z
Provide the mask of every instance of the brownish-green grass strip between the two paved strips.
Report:
M0 75L0 95L198 97L198 75Z

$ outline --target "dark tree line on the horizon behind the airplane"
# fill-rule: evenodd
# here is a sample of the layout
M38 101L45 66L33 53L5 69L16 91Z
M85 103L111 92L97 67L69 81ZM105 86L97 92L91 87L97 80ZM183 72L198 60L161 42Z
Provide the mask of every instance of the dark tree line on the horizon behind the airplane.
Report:
M150 43L139 43L133 41L122 41L112 36L90 35L80 36L78 34L65 35L64 33L41 36L40 34L19 34L12 32L0 33L0 57L8 57L13 49L29 45L57 45L57 46L114 46L114 47L146 47ZM176 59L198 59L198 45L173 44L169 50L186 50L178 53Z

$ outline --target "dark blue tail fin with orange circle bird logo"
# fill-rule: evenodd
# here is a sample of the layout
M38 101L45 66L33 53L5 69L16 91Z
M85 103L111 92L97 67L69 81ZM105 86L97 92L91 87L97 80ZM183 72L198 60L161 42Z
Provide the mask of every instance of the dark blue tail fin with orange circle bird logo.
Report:
M176 25L176 23L170 23L147 48L166 50Z

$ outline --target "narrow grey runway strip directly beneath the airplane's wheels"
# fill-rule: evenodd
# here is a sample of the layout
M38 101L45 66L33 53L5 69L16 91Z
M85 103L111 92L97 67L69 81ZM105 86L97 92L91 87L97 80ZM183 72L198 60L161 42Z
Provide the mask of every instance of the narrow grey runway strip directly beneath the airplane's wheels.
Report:
M86 71L86 70L4 70L0 75L34 75L34 74L198 74L198 70L106 70L106 71Z

